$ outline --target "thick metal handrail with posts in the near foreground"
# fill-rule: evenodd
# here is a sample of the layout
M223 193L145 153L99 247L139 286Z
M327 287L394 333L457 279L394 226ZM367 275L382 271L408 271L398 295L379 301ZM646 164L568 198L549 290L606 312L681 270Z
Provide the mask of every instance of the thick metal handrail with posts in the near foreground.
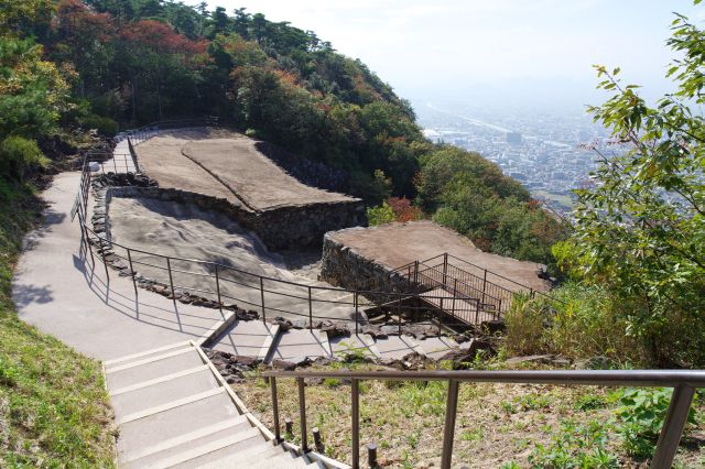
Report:
M460 383L521 383L521 384L557 384L557 385L596 385L596 386L637 386L637 388L673 388L671 403L661 428L655 454L651 467L670 468L677 449L688 411L693 403L695 390L705 388L705 371L680 370L631 370L631 371L265 371L262 373L270 381L272 395L272 414L276 441L283 441L280 427L279 400L276 380L294 378L299 385L299 410L301 418L301 446L308 450L306 425L306 378L350 380L351 400L351 451L352 468L360 467L360 391L362 380L381 381L446 381L445 424L443 427L443 446L441 467L451 468L455 423L457 415L458 392Z

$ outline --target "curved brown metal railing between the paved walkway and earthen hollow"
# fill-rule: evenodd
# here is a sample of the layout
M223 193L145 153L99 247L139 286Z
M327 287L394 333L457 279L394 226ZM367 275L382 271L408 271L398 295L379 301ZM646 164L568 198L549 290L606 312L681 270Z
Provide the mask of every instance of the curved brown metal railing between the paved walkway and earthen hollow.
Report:
M194 298L206 298L215 302L221 312L225 308L232 309L252 308L260 314L265 321L268 316L274 315L301 317L307 320L307 327L314 327L314 320L330 319L345 323L354 323L355 334L361 332L361 326L368 324L362 315L365 309L381 309L388 319L388 324L395 324L399 332L402 332L404 314L424 313L430 320L438 327L438 332L444 327L465 327L467 321L456 317L440 317L427 305L420 302L413 303L417 295L393 286L390 291L341 288L334 286L321 286L300 282L292 282L272 276L261 275L246 270L234 268L221 262L213 262L197 259L177 258L135 249L115 242L106 232L96 232L88 225L88 199L91 187L91 163L100 163L99 170L105 173L112 162L106 160L106 154L91 153L84 155L79 192L76 197L75 209L80 221L82 253L89 258L93 268L96 259L104 263L107 280L110 279L109 268L120 270L122 276L131 279L135 298L139 296L139 283L141 279L149 281L152 286L161 285L165 294L176 301L180 292L188 293ZM107 217L107 214L106 214ZM107 220L106 220L107 221ZM107 222L106 222L107 225ZM95 250L94 250L95 248ZM142 275L138 271L149 272ZM390 285L393 285L390 282ZM429 302L452 302L454 295L425 295ZM455 297L456 303L468 298L462 294ZM332 315L334 308L337 315ZM458 309L459 310L459 309ZM394 321L394 318L397 319Z

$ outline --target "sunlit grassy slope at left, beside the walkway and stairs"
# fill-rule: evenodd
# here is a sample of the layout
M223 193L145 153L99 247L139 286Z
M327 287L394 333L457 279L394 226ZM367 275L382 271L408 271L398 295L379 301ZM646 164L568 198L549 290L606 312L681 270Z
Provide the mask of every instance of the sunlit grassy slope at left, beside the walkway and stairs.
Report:
M0 467L111 467L100 363L18 319L11 279L37 198L0 179Z

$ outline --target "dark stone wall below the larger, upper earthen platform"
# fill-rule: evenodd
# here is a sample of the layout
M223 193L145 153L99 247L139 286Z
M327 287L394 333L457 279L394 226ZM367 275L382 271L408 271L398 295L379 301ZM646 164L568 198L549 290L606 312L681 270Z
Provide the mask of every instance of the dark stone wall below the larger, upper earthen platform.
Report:
M367 225L365 207L359 199L278 207L256 212L236 207L226 199L173 188L110 187L108 193L108 197L148 197L195 204L204 210L218 211L254 231L270 249L321 246L327 231Z

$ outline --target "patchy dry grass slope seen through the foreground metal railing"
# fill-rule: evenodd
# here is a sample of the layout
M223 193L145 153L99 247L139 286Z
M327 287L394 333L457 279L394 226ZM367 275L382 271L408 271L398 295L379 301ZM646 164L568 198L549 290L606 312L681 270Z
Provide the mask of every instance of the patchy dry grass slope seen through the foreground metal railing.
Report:
M501 363L498 366L502 368ZM345 367L370 368L365 364ZM290 417L294 422L294 435L286 439L299 443L296 384L292 379L281 379L278 385L281 418ZM232 384L232 389L248 408L272 428L270 388L259 372L252 373L243 383ZM377 443L384 467L438 467L446 392L446 384L442 382L422 385L364 381L360 384L360 444ZM563 435L562 423L609 422L618 405L610 394L611 390L596 386L463 384L454 444L455 462L478 469L534 467L529 461L532 450L536 445L551 446L554 438ZM350 463L349 384L336 380L308 384L306 407L308 428L317 426L321 429L325 452ZM705 408L699 406L698 412L703 413ZM696 438L682 446L676 457L679 468L705 465L705 424L692 434ZM616 435L611 434L605 446L619 457L620 467L638 467L639 461L623 454ZM588 451L586 448L572 449ZM360 455L361 458L367 456L364 446ZM516 465L510 466L511 461Z

